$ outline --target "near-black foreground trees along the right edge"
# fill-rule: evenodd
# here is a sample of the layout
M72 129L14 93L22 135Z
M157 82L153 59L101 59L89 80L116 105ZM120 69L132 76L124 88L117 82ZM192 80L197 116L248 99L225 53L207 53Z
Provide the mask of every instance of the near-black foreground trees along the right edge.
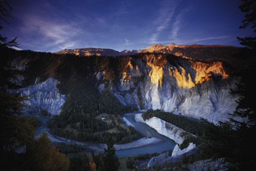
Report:
M244 29L251 26L256 32L256 2L253 0L243 0L240 6L242 12L245 12L243 25ZM238 72L240 84L232 93L240 96L238 106L234 116L244 119L244 121L235 121L230 119L229 122L218 122L212 124L205 122L203 138L205 140L204 150L212 158L226 158L232 163L230 170L255 170L256 168L256 106L255 106L255 83L252 73L255 73L255 37L238 38L246 49L238 56L250 60L250 67L243 68Z

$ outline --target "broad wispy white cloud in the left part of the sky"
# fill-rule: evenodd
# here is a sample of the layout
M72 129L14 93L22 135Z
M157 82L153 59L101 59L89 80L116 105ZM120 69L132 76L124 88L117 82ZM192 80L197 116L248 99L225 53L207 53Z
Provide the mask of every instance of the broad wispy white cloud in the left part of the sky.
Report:
M82 30L74 22L27 16L21 27L21 32L27 36L39 35L34 38L37 44L41 42L44 47L52 46L52 50L61 50L75 47L77 45L75 37L82 33ZM30 44L34 44L34 42L30 42Z

